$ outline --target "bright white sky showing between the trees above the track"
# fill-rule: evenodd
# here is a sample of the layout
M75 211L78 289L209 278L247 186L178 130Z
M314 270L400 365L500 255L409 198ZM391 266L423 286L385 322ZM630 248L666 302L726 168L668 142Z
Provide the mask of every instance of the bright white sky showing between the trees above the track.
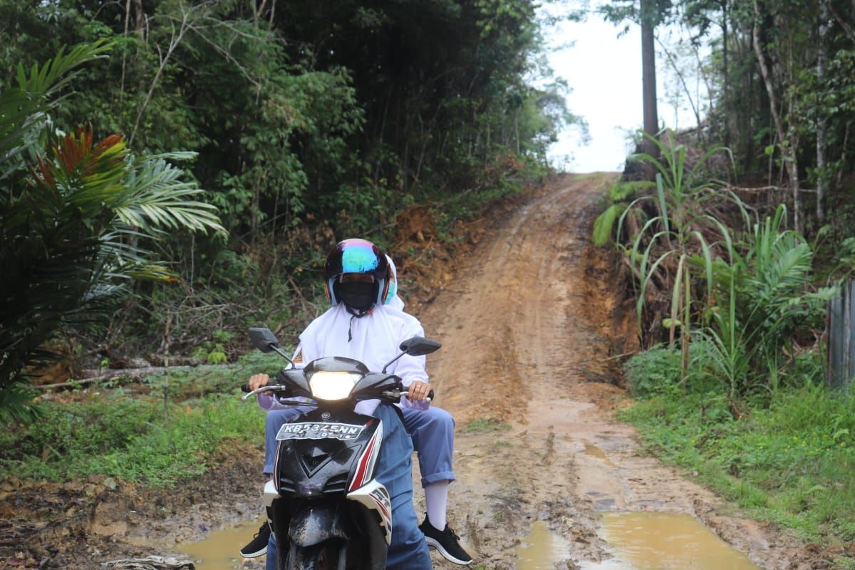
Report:
M593 5L603 3L593 0ZM551 7L552 14L566 10L575 2ZM623 169L626 156L632 152L629 137L643 123L641 106L641 32L630 25L628 32L618 38L623 26L603 21L591 14L586 21L564 21L543 30L549 49L547 60L557 75L572 89L567 107L581 115L588 124L590 140L582 141L578 128L561 132L558 142L549 150L550 162L576 173ZM660 30L666 39L675 30ZM657 46L657 51L659 47ZM697 121L687 103L687 97L677 103L667 103L669 80L667 62L657 56L657 98L660 124L689 126ZM692 84L690 87L696 88Z

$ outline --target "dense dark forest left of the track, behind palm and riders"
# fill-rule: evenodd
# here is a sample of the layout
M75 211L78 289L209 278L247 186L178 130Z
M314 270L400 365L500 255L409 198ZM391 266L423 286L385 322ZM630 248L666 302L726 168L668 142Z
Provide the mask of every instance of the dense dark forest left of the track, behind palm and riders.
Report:
M90 360L190 353L247 322L304 318L298 315L315 310L306 284L335 241L362 235L390 245L396 216L414 204L428 203L440 222L455 220L542 172L546 145L575 117L564 108L562 85L527 82L542 69L534 9L530 0L0 0L4 104L33 94L50 102L15 123L39 129L15 142L14 156L3 147L3 170L15 172L3 179L3 234L11 240L4 244L27 239L35 227L7 216L14 201L56 227L65 227L62 215L77 216L90 237L50 239L101 260L79 276L88 285L73 287L72 297L87 302L121 273L104 265L98 239L121 250L114 258L148 269L159 260L171 284L128 281L131 296L108 326L75 325L74 350ZM73 80L62 79L68 97L21 85L19 68L38 80L52 77L50 66L68 50L98 56L77 67ZM104 167L98 184L167 176L172 191L200 200L197 218L186 210L164 217L150 204L131 211L85 189L85 181L79 190L92 202L78 210L57 214L35 190L27 190L29 202L19 201L22 188L58 180L68 203L77 204L75 190L57 178L72 175L69 154ZM216 208L222 228L203 217L213 211L203 203ZM150 226L158 227L156 252L149 249L154 242L132 236ZM227 232L171 231L178 226ZM77 247L75 239L95 241ZM108 273L112 280L94 277ZM4 306L27 290L28 279L24 272L4 283ZM66 315L80 313L74 303L44 307L55 318L38 325L50 332L41 340L68 325ZM19 318L3 314L4 335ZM7 344L10 355L14 343ZM44 348L35 337L30 344L27 350ZM23 363L32 359L4 357L4 381Z

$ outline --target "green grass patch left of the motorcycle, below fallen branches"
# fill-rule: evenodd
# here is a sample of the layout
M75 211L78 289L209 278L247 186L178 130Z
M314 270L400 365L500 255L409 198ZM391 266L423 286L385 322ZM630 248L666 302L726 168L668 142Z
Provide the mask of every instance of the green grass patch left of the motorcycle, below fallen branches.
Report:
M252 354L221 370L182 371L127 386L85 391L70 403L44 403L44 415L0 432L0 479L68 481L89 474L170 486L204 473L227 442L258 449L264 414L241 402L239 385L280 362Z

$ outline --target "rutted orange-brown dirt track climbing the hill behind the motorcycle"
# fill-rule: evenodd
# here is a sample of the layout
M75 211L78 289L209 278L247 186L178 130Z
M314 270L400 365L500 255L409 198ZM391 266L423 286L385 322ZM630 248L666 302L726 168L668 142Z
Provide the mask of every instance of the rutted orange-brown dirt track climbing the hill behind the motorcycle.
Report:
M610 261L588 237L598 197L615 178L568 177L530 199L418 315L443 342L428 372L437 404L457 420L451 526L475 567L516 568L534 520L569 541L570 559L557 562L592 567L610 558L598 511L679 512L763 567L810 567L793 541L724 514L710 491L638 455L632 428L613 419L624 396L612 385L610 347L625 350L610 337L620 321ZM468 431L473 420L481 429Z

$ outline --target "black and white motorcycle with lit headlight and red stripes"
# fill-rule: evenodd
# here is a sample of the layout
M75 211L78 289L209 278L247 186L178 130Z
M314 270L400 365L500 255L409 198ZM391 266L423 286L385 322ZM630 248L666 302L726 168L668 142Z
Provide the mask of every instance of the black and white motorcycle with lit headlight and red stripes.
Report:
M252 344L264 353L276 352L291 367L274 380L250 391L273 392L280 403L315 409L286 422L276 434L274 476L264 487L268 521L280 548L280 570L383 570L392 541L392 501L375 478L383 445L380 420L357 414L362 400L380 405L398 403L407 392L401 379L386 373L404 355L422 356L439 350L430 338L413 337L400 345L400 354L382 371L362 362L333 356L298 368L279 348L273 332L251 328ZM243 386L249 391L249 386ZM428 395L433 398L433 391Z

